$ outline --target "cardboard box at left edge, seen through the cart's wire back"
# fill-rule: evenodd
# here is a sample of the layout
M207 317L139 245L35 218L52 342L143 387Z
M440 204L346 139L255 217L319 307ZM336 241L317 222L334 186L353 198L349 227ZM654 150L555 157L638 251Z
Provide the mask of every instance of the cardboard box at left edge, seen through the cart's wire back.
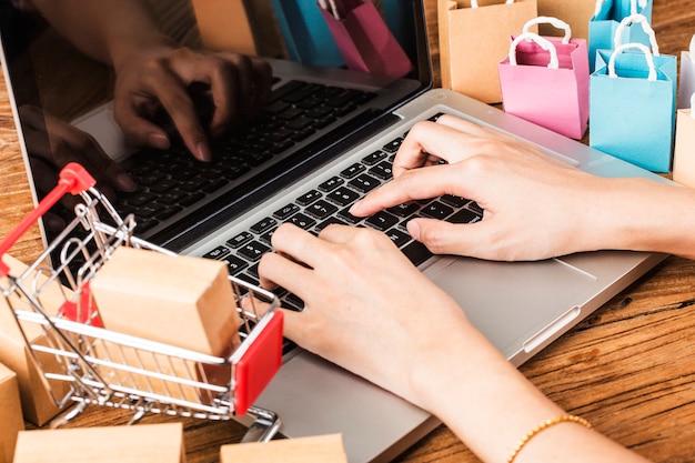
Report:
M10 268L11 275L19 275L27 270L27 265L10 255L6 254L3 262ZM3 281L2 284L3 288L8 288L7 282ZM42 292L40 302L49 315L58 313L66 294L69 294L68 289L59 289L53 285ZM11 299L13 303L17 303L16 309L23 308L29 310L14 298L11 296ZM44 343L46 338L40 326L24 323L23 329L29 342ZM46 371L61 371L53 355L43 354L37 358ZM0 298L0 362L4 363L17 374L22 412L27 421L41 426L61 411L51 396L50 387L53 389L57 395L62 396L68 393L69 384L68 382L52 381L48 383L44 381L41 370L27 346L22 332L4 298Z

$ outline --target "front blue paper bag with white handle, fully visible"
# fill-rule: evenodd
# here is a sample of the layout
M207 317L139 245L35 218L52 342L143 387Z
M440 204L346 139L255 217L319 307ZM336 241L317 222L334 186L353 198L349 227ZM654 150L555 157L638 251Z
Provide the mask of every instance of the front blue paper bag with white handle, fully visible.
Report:
M639 52L624 52L628 49ZM653 172L668 172L676 105L676 57L642 43L598 50L590 77L590 145Z

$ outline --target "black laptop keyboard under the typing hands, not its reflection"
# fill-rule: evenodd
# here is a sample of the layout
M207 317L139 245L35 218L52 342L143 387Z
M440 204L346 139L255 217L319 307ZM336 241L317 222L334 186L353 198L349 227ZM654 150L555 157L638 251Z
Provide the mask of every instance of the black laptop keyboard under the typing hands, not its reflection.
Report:
M446 194L399 204L367 218L356 218L348 212L354 202L392 178L391 168L403 137L395 138L336 175L318 179L294 201L262 218L248 230L229 236L223 244L204 253L203 258L222 260L226 262L230 274L259 284L259 261L264 253L272 251L271 238L280 224L290 222L319 234L329 224L339 223L380 230L411 262L415 265L423 263L432 253L411 239L405 228L410 220L433 218L452 223L474 223L482 219L483 210L474 201ZM276 294L286 309L301 311L304 306L301 299L283 289L276 290ZM291 345L288 342L288 349Z

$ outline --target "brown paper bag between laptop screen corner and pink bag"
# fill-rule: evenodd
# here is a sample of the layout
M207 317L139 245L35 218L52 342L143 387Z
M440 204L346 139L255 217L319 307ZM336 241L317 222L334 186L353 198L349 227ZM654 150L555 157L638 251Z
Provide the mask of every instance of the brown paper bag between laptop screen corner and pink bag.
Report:
M485 103L501 102L497 64L508 52L510 36L537 17L536 0L473 0L470 7L439 0L437 12L442 87Z

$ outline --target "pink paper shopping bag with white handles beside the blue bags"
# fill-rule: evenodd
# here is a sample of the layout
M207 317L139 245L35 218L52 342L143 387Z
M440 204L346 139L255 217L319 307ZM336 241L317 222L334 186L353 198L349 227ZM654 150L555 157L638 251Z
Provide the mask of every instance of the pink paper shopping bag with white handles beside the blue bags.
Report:
M553 23L565 34L541 37L530 31L540 23ZM588 120L588 58L586 40L571 34L570 26L556 18L528 21L500 62L500 87L505 112L582 139Z

